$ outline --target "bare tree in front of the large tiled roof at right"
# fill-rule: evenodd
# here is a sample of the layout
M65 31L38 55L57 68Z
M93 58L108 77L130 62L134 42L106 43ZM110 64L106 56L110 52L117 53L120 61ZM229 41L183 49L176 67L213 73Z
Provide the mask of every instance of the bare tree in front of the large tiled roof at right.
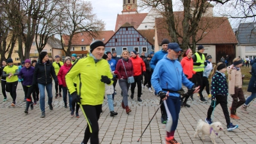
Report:
M216 3L227 3L230 0L209 0L209 2ZM198 25L202 16L204 15L207 8L209 8L210 3L207 0L186 0L181 1L183 6L183 15L175 15L173 10L173 0L141 0L140 6L143 7L154 7L161 12L164 17L165 23L167 24L166 30L172 38L172 42L177 42L180 44L182 49L188 49L191 47L195 52L195 45L198 40L196 40L196 35L199 29ZM193 8L191 7L193 6ZM179 31L179 22L182 25L182 31ZM201 38L204 35L200 36ZM193 44L189 44L189 40L192 38ZM181 39L181 40L179 40Z

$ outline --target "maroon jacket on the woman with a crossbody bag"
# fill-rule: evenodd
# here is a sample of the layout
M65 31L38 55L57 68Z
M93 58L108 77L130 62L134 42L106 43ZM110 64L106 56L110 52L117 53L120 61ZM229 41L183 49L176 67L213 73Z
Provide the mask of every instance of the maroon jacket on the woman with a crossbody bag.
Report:
M131 59L128 59L128 61L123 60L123 62L125 65L125 70L127 72L127 76L128 77L134 76ZM127 76L126 76L125 70L124 70L124 65L122 63L122 58L120 60L118 60L118 62L116 63L115 72L117 73L116 75L117 75L118 79L121 79L121 78L127 79Z

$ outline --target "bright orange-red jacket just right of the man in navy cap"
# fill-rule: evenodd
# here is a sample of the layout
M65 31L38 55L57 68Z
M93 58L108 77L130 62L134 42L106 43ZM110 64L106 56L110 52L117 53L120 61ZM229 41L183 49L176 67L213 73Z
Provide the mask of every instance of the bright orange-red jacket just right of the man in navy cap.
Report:
M186 74L188 79L191 79L193 74L196 74L196 71L193 70L193 59L188 58L187 56L182 58L180 61L181 67L183 68L184 74Z

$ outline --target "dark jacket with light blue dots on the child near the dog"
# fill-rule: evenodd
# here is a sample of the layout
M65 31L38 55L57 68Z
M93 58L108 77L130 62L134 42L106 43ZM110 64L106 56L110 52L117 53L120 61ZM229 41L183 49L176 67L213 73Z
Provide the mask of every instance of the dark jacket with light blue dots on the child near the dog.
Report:
M216 95L228 95L227 79L220 72L216 72L212 77L211 94L212 98Z

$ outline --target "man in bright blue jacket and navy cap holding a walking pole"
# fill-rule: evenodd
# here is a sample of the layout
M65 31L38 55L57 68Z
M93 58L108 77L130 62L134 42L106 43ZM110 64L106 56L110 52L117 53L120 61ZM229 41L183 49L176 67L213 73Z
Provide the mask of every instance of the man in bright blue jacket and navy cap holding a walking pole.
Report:
M174 139L174 133L178 125L180 113L180 94L178 91L182 88L182 84L188 87L188 93L199 91L199 86L195 88L195 84L187 79L183 73L180 62L177 58L180 55L179 44L168 44L168 54L165 54L163 59L158 61L152 75L151 83L159 95L160 99L164 100L164 106L168 115L166 124L166 143L177 143Z

